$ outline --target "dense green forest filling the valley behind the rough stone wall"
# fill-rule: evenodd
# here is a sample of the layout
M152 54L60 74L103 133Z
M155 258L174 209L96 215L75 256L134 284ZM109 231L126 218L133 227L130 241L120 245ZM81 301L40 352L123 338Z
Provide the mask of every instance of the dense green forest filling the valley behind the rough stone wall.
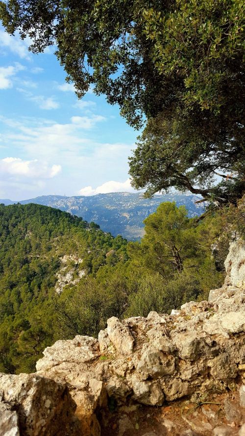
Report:
M188 218L184 206L162 203L145 220L142 241L127 243L57 209L1 205L0 370L34 371L46 346L97 335L110 316L169 312L205 298L223 280L228 236L215 256L211 245L224 226L233 228L237 213L228 210ZM67 273L59 295L57 282Z

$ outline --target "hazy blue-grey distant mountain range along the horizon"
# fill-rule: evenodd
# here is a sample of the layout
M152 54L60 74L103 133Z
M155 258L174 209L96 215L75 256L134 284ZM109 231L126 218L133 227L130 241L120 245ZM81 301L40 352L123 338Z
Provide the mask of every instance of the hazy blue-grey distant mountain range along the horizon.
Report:
M143 221L155 212L163 201L176 201L177 206L184 204L189 217L201 215L203 204L195 204L199 197L170 193L144 198L142 193L111 192L93 196L66 197L62 195L43 195L23 201L0 200L0 203L35 203L51 206L65 212L70 212L86 221L99 224L101 230L110 232L113 236L122 235L131 241L136 241L144 235Z

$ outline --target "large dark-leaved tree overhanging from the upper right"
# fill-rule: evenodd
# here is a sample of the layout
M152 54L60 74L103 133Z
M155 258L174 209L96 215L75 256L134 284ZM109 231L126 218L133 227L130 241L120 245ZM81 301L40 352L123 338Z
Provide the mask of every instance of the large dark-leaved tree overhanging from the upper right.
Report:
M220 170L235 173L244 189L242 0L8 0L0 1L0 18L9 33L31 37L34 53L57 45L78 97L92 84L130 125L139 128L146 115L143 135L159 143L148 175L145 136L135 152L137 188L176 186L210 198L204 182Z

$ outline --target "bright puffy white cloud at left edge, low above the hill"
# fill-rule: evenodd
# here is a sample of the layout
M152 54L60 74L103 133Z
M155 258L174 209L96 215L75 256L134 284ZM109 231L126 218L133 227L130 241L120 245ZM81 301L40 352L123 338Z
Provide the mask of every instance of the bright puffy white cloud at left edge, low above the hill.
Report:
M61 171L60 165L49 166L37 159L24 161L20 158L4 158L0 160L0 173L12 177L30 177L34 179L50 179Z

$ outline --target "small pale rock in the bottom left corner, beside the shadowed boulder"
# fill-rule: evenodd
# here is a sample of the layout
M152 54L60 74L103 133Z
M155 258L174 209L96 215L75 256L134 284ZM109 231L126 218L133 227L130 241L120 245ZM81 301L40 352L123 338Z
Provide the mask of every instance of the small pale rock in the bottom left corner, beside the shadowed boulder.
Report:
M20 436L16 410L3 401L0 402L0 436Z

